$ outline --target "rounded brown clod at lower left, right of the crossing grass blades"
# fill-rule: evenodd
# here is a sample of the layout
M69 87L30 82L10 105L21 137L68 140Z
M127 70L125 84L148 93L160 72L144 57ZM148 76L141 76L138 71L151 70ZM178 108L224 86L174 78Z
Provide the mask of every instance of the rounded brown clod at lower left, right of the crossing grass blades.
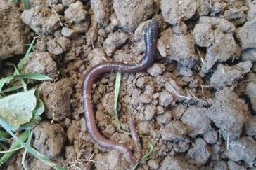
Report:
M37 148L40 153L47 157L56 157L60 155L63 145L66 140L66 134L63 127L59 124L52 124L50 122L40 122L37 127L33 129L35 136L33 146Z

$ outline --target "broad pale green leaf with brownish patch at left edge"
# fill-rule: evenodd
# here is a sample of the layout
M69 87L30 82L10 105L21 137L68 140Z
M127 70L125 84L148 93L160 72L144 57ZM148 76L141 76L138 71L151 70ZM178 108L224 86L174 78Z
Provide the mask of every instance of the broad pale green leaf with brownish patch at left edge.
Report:
M32 111L37 106L34 91L19 92L0 99L0 117L9 123L13 130L30 122Z

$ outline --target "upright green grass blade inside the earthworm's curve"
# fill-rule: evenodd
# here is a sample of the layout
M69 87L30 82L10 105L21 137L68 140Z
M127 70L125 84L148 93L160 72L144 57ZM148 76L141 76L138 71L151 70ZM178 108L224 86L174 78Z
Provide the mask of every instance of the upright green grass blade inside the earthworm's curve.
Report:
M130 134L129 132L126 132L121 129L120 126L120 121L118 118L118 112L117 112L117 101L118 101L118 96L119 96L119 91L120 91L120 84L121 84L121 73L117 72L116 77L115 77L115 94L114 94L114 113L115 113L115 126L120 132Z

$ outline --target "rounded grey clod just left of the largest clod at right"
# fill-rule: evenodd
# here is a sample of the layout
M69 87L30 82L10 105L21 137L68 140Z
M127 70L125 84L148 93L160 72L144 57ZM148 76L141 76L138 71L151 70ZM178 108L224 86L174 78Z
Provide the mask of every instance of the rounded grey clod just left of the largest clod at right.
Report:
M195 137L198 134L205 134L210 125L210 119L205 115L207 108L191 106L181 117L181 122L189 127L188 136Z

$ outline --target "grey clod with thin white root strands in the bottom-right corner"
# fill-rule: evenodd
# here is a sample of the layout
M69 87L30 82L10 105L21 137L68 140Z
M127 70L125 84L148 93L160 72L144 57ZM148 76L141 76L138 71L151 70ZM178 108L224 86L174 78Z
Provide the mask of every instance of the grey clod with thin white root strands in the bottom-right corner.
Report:
M252 137L229 141L229 148L226 148L224 154L230 160L235 162L243 160L249 167L253 167L256 157L256 141Z

